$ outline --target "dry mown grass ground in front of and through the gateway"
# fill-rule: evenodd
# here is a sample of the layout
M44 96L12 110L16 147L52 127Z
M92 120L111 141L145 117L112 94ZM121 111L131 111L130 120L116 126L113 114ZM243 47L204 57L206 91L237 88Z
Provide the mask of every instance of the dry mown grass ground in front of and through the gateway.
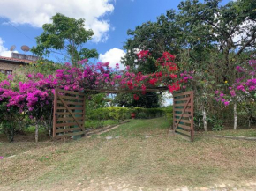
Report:
M256 142L199 135L190 143L168 136L169 126L164 118L134 120L77 141L0 143L0 190L166 190L256 181Z

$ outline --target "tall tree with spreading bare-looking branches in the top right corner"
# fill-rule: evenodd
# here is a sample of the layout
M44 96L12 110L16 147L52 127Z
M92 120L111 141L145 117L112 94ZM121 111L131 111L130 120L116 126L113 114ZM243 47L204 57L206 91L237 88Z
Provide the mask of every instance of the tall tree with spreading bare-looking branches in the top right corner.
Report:
M221 0L206 0L204 3L186 0L178 6L177 20L183 29L186 47L195 53L191 54L194 61L206 62L207 56L202 53L210 47L217 48L223 55L221 68L224 74L222 80L225 81L229 80L228 74L236 66L232 58L255 48L256 3L253 0L230 1L225 5L220 3Z

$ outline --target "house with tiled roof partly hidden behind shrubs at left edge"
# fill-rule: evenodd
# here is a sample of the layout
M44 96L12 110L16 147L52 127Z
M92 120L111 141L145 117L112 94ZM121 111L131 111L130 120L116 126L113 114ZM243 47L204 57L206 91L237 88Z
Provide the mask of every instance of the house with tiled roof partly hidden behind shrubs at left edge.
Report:
M36 63L38 56L11 53L11 57L0 56L0 72L10 75L23 65Z

